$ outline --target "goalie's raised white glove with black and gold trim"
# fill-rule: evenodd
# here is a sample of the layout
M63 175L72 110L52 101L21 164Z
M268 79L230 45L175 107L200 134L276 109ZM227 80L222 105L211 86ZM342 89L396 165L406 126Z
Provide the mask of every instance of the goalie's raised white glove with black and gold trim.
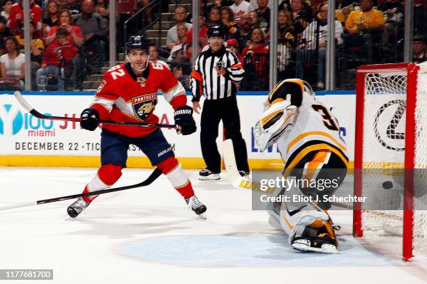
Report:
M255 124L255 144L264 151L278 141L288 126L294 123L297 107L290 100L271 104Z

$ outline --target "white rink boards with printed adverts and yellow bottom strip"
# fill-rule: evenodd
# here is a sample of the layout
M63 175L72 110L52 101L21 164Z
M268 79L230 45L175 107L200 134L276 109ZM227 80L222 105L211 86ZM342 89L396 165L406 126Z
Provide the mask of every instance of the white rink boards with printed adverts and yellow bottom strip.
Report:
M26 100L40 113L52 116L80 117L91 103L92 92L23 92ZM188 93L188 95L190 95ZM253 125L261 115L267 92L238 93L241 132L246 140L251 168L283 168L276 145L260 152L255 145ZM340 136L346 141L350 161L354 157L354 91L322 91L318 100L327 104L340 123ZM188 96L190 104L190 96ZM160 95L154 111L160 123L174 123L173 109ZM197 132L178 135L163 129L167 141L184 168L204 168L200 150L200 115L194 113ZM220 124L218 148L223 140ZM0 166L90 166L100 164L100 129L89 132L78 123L40 120L27 113L15 100L12 92L0 95ZM136 147L128 151L128 167L149 168L147 157ZM352 162L350 163L352 166Z

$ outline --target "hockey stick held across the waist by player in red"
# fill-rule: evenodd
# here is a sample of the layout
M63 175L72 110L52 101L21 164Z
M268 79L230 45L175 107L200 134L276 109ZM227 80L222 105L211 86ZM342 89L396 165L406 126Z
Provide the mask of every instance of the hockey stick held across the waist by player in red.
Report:
M15 97L17 101L21 104L24 109L26 109L29 113L31 113L36 118L41 119L47 119L47 120L66 120L66 121L73 121L76 123L80 123L82 121L82 118L67 118L65 116L45 116L42 113L39 113L31 107L31 104L29 104L24 97L22 97L19 90L15 91ZM164 127L164 128L173 128L178 129L178 125L167 125L167 124L157 124L157 123L133 123L128 121L113 121L113 120L99 120L99 123L103 124L109 124L109 125L128 125L128 126L137 126L137 127Z

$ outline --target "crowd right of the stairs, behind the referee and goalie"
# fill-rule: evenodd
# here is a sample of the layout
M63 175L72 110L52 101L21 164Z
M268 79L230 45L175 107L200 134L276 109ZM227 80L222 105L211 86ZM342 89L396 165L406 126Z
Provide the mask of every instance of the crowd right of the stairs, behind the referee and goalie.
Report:
M246 70L241 90L268 89L271 2L216 0L208 3L200 0L201 48L207 45L207 27L223 26L228 48L239 56ZM324 89L328 1L284 0L279 3L278 79L299 77L318 90ZM346 70L358 65L403 61L404 11L403 0L336 1L336 74L341 81L345 81ZM181 34L184 25L191 30L188 15L185 6L177 6L176 24L167 31L167 49L171 52L167 63L175 69L190 64L190 33L185 45L178 29L181 26ZM414 62L427 59L426 31L422 24L421 29L417 29L419 26L414 25Z

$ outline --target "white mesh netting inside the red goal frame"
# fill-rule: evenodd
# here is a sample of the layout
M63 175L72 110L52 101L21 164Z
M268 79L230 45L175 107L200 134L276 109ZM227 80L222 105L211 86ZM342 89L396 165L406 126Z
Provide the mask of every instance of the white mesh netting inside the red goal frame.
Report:
M408 88L416 88L417 97L415 125L410 129L406 129ZM403 68L367 72L362 153L362 194L367 199L362 205L362 230L403 235L405 134L415 132L413 252L423 255L427 255L426 127L426 64L419 65L417 86L407 86L407 70Z

